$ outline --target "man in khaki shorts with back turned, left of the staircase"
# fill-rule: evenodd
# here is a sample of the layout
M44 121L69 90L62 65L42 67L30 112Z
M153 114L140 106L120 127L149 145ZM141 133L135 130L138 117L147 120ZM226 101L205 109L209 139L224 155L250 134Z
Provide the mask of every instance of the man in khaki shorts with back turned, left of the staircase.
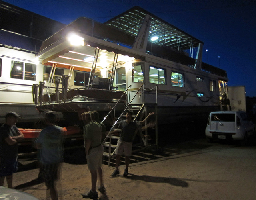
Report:
M94 114L92 112L82 113L82 120L86 124L83 128L83 137L84 137L84 148L86 153L86 160L88 169L91 173L92 186L91 190L82 194L83 198L98 198L98 192L96 191L97 180L99 181L100 186L98 190L105 194L106 189L103 185L102 177L102 157L103 157L103 145L101 144L102 132L100 125L93 121ZM98 172L98 177L97 177Z

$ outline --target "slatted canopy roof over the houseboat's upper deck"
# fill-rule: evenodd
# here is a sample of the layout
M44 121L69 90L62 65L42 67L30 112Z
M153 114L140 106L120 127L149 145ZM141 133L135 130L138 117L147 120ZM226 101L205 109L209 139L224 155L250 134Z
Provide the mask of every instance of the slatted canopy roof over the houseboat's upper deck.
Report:
M158 46L169 47L176 51L186 51L198 47L202 41L178 29L174 25L158 18L138 6L112 18L104 24L119 31L137 37L146 15L152 16L148 41ZM155 39L155 40L154 40Z

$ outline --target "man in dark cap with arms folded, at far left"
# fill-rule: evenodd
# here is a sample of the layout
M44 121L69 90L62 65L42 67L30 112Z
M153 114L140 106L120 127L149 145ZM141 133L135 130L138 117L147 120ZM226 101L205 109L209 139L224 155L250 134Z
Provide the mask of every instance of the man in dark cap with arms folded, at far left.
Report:
M0 186L4 186L6 177L8 188L13 188L12 174L18 169L18 141L24 138L15 125L18 118L21 116L16 112L8 112L0 127Z

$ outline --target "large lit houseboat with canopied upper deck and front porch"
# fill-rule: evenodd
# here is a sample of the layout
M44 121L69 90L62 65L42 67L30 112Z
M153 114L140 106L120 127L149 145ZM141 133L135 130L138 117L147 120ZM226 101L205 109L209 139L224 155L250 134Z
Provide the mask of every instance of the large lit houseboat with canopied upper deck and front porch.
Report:
M157 107L158 124L206 119L227 98L226 71L202 62L202 41L140 7L101 24L81 17L45 41L36 108L69 121L84 111ZM224 104L224 103L223 103Z

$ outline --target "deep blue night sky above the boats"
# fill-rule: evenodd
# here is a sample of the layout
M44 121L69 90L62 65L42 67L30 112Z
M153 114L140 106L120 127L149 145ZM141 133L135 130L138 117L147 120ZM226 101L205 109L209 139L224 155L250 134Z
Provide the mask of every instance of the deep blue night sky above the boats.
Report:
M81 16L106 22L140 6L204 42L202 61L226 70L228 86L256 96L256 0L4 1L64 24Z

